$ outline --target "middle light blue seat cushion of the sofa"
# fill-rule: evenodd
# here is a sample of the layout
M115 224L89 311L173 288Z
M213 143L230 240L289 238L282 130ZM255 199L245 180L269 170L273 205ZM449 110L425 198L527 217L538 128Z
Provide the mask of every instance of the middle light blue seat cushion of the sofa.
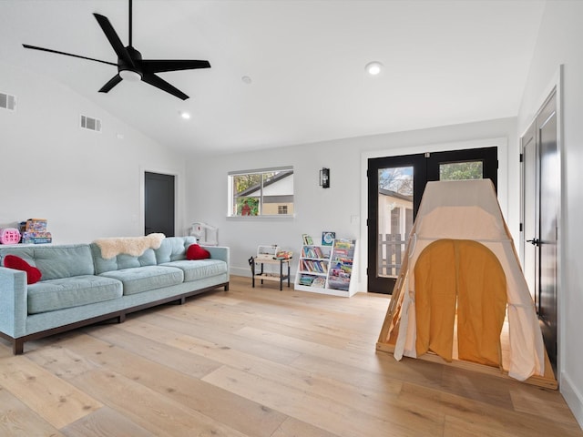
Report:
M132 269L111 270L99 276L118 279L123 283L124 295L156 290L180 284L184 280L181 269L162 266L144 266Z

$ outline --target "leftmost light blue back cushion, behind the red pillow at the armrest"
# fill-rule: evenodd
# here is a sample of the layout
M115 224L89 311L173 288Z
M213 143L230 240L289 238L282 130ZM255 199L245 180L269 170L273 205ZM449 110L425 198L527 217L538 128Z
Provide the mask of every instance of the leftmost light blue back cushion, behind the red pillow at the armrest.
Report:
M93 275L93 258L88 244L62 246L36 245L0 249L0 256L15 255L43 273L41 282L49 279Z

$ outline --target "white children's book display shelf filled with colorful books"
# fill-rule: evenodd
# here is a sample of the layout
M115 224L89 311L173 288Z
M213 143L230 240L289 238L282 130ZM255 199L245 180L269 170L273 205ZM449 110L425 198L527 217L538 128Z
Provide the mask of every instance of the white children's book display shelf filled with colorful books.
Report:
M356 240L334 239L331 246L306 245L298 261L294 289L350 297L356 292Z

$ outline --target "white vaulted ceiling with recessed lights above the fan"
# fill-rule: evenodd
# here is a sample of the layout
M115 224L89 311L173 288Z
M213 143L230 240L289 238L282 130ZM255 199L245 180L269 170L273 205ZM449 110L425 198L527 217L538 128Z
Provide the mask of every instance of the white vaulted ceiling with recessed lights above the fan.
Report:
M127 0L0 0L0 63L62 82L168 147L281 147L515 117L542 0L135 0L133 46L147 59L208 59L98 93L117 62L95 17L128 44ZM382 75L364 72L369 61ZM242 76L250 76L245 84ZM179 118L189 111L192 118Z

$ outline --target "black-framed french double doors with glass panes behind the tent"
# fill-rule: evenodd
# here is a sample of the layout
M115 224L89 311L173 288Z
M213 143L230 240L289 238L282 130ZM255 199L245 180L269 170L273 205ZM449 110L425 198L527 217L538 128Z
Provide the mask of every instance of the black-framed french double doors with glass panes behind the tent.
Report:
M490 178L496 188L497 168L497 147L369 159L368 290L393 293L428 181Z

